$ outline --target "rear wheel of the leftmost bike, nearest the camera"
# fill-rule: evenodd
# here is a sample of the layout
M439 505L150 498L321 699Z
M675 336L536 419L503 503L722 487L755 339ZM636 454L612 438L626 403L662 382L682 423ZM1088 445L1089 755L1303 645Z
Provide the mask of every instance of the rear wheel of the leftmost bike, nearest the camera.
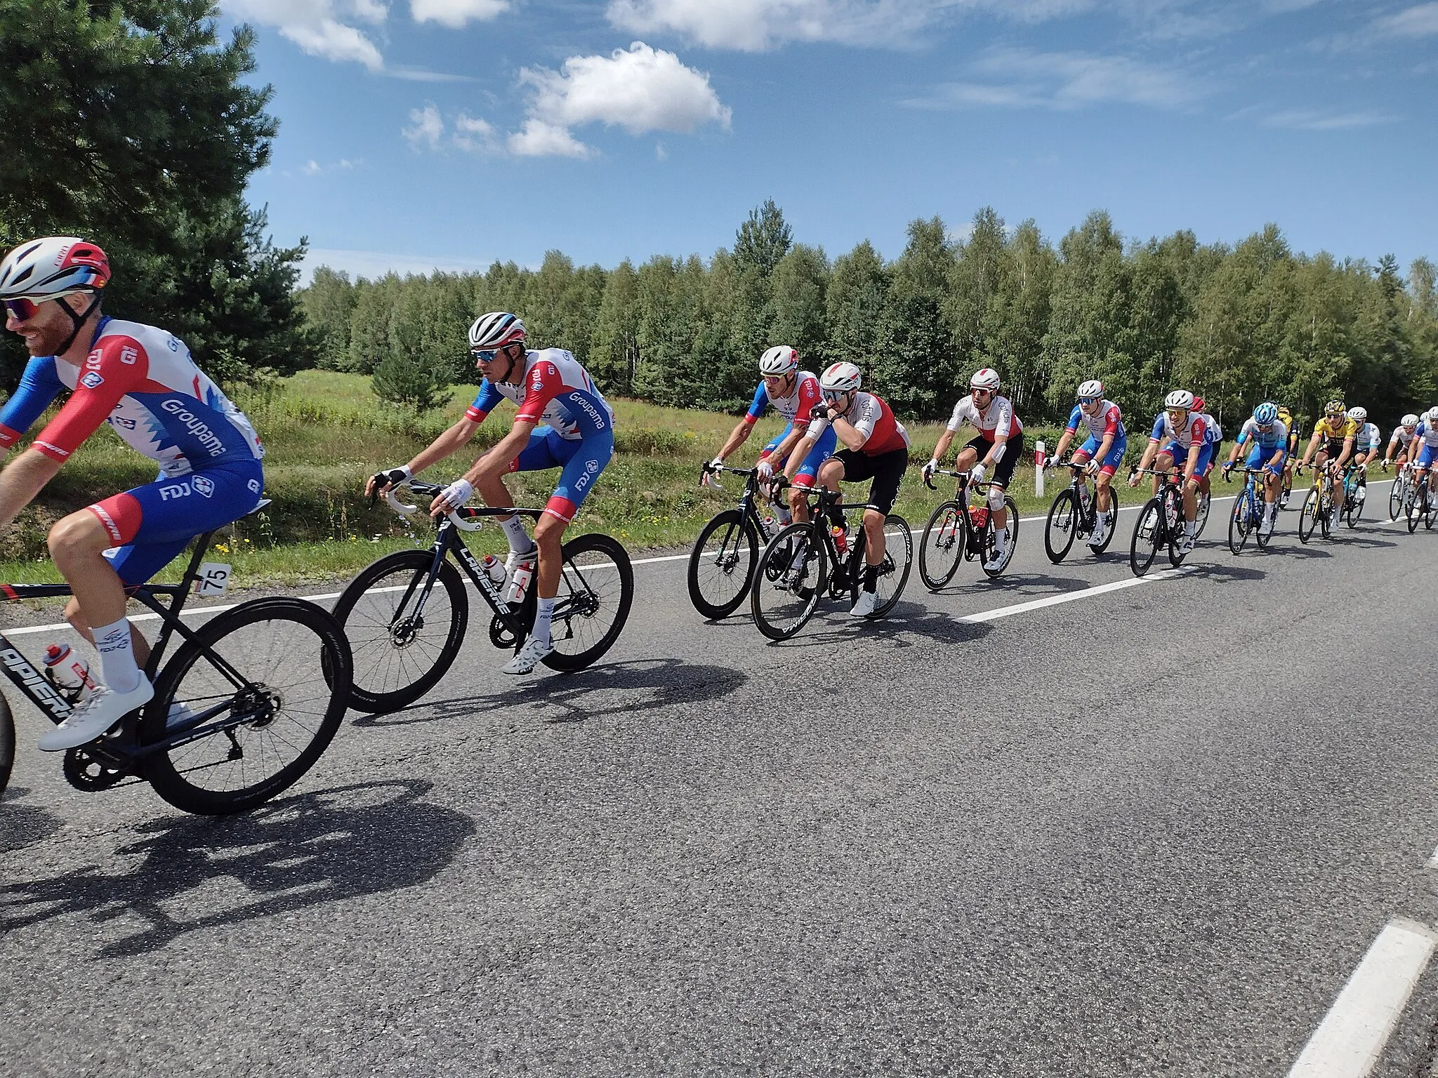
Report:
M165 740L171 704L214 714L151 755L145 778L183 812L246 812L319 759L344 719L349 676L349 642L322 607L276 596L226 611L160 671L141 740Z

